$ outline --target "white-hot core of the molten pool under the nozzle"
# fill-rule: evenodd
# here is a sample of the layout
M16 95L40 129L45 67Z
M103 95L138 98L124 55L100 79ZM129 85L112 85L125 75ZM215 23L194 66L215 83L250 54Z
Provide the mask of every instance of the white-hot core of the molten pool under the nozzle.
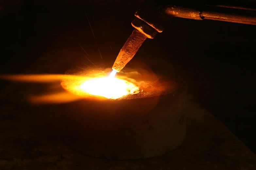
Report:
M92 95L117 99L128 94L139 93L139 87L127 80L102 77L92 78L79 86L79 89Z

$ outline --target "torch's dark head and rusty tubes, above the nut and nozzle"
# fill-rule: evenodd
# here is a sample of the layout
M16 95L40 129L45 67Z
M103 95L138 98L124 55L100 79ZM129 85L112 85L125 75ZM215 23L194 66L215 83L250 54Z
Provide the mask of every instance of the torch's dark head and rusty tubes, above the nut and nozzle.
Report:
M135 16L162 32L169 17L180 17L195 20L219 20L237 23L255 24L256 9L227 5L203 5L195 6L187 4L179 6L166 1L145 0L135 13Z

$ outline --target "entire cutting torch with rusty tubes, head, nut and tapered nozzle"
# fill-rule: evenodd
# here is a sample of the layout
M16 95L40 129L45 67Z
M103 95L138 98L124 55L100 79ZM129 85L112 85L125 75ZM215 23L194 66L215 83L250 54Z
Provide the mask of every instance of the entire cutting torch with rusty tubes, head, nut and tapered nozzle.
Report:
M194 20L218 20L256 25L256 9L227 5L193 4L180 6L158 0L145 0L131 22L135 28L120 50L112 69L120 72L133 58L146 38L161 33L169 18L180 17Z

